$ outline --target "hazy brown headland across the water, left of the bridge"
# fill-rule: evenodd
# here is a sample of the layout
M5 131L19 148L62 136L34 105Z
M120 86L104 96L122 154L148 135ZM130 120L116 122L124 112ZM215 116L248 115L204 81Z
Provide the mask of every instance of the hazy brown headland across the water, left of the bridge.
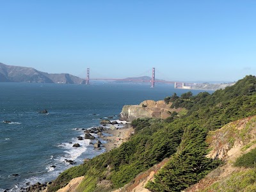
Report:
M65 83L84 84L81 79L70 74L48 74L31 67L19 67L0 63L0 82Z

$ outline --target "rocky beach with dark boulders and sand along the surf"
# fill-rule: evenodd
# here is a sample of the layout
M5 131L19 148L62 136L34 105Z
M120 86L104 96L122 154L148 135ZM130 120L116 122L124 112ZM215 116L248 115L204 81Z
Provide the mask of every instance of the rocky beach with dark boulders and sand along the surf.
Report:
M113 148L119 147L124 141L127 141L131 134L134 133L129 122L120 120L101 120L99 127L92 127L90 129L77 128L76 130L84 131L84 137L77 136L77 140L91 140L90 145L93 145L94 150L105 149L105 152L108 152ZM79 143L74 143L73 147L80 147L80 145ZM90 159L84 159L84 161L89 160ZM69 164L76 164L75 161L72 161L70 159L65 159L65 161ZM47 186L51 183L52 182L45 182L44 184L41 184L40 182L37 182L36 184L33 184L26 189L20 189L20 191L46 192ZM61 191L61 189L59 191Z

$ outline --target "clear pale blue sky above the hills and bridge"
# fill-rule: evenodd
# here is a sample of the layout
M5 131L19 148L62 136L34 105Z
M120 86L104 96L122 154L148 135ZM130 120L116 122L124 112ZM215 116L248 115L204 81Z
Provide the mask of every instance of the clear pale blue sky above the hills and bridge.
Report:
M256 1L0 0L0 62L86 77L256 75Z

